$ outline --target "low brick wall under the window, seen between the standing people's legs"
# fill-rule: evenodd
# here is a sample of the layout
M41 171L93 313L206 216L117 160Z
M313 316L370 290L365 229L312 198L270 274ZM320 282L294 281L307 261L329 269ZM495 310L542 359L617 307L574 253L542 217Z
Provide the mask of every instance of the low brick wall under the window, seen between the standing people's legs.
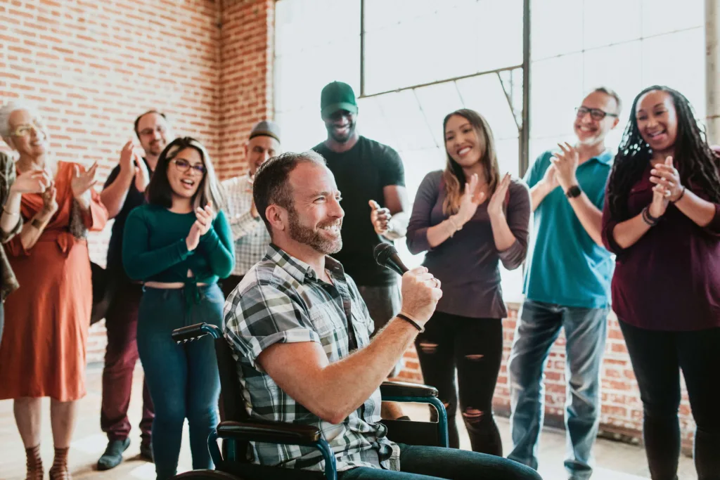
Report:
M510 384L508 382L508 357L513 345L518 305L510 305L508 318L503 320L503 364L500 366L498 385L495 387L493 407L496 415L510 416ZM404 369L398 379L423 381L415 348L408 350L402 359ZM637 443L642 431L642 402L632 370L623 334L614 314L608 317L608 341L601 373L602 412L600 435L617 440ZM561 334L550 350L545 366L545 423L563 427L565 404L565 338ZM695 422L690 412L688 394L683 383L683 400L680 404L680 430L685 453L692 449Z

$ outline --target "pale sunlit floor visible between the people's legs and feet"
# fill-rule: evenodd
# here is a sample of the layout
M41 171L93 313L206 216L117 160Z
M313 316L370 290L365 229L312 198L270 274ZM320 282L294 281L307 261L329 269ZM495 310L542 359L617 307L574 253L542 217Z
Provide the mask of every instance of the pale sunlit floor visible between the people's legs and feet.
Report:
M125 462L111 471L95 471L94 466L105 449L107 439L99 426L101 374L97 366L91 366L87 375L88 395L81 400L79 406L78 425L76 427L70 453L71 473L76 480L153 480L155 469L152 463L140 460L140 432L137 428L140 420L140 404L142 396L140 382L142 374L138 368L135 375L132 402L130 404L130 420L133 425L131 433L132 443L125 452ZM42 425L42 458L47 472L53 462L53 444L50 433L50 402L46 399L43 404ZM410 417L418 420L427 418L428 409L418 404L405 407ZM508 420L498 418L498 427L503 437L503 445L507 452L510 446L510 427ZM462 425L462 422L460 422ZM461 448L469 450L469 439L464 427L461 427ZM546 428L541 437L540 445L540 474L545 480L564 480L567 477L562 468L564 458L564 432ZM187 441L187 425L180 455L179 471L186 471L192 467L189 445ZM647 461L642 448L617 443L610 440L598 440L595 445L597 468L593 480L637 480L647 479ZM0 479L22 480L25 474L25 455L20 442L17 428L12 415L12 402L0 402ZM692 459L680 458L680 479L696 480ZM47 474L46 474L47 475Z

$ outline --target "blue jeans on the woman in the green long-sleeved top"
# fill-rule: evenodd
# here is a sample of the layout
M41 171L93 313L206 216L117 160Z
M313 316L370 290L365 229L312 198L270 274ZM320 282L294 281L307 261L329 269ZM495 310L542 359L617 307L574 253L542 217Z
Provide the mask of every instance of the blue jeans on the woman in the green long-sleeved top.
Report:
M210 338L177 345L173 330L206 322L220 327L225 299L217 284L199 286L199 300L184 289L145 288L138 312L138 353L155 405L153 457L158 480L177 471L187 418L194 469L212 468L207 435L217 426L220 376Z

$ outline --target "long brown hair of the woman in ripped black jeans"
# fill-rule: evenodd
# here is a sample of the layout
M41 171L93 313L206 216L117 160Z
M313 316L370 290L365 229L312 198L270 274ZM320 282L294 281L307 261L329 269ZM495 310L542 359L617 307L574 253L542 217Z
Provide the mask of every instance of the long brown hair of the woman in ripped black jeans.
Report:
M485 170L485 180L488 184L488 195L495 193L500 183L500 166L498 166L498 156L495 153L495 137L492 136L490 124L487 123L485 117L470 109L459 109L446 115L443 120L443 138L445 138L445 127L447 127L450 117L458 115L466 119L477 133L477 137L485 142L485 152L480 158L482 168ZM443 202L443 212L446 215L457 213L460 208L460 197L465 190L465 173L462 167L453 160L445 148L447 162L445 171L443 172L443 181L445 182L445 201Z

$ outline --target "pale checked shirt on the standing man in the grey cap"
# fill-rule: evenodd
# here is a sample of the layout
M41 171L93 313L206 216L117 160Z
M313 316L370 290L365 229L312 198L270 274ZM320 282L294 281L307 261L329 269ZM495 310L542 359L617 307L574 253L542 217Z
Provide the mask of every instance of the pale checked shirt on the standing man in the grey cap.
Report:
M261 261L270 243L270 234L262 219L253 218L253 186L248 175L228 178L222 182L228 194L228 222L235 243L233 275L243 276Z

